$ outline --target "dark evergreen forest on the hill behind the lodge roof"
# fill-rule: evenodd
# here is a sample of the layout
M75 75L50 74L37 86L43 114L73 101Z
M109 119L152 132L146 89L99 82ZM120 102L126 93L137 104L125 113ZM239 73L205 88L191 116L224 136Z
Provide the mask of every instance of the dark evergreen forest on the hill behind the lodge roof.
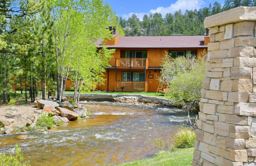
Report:
M127 20L120 17L120 25L125 36L172 36L172 35L204 35L204 18L239 6L256 6L255 0L226 0L222 6L217 1L202 9L181 10L167 13L149 13L140 20L132 14Z

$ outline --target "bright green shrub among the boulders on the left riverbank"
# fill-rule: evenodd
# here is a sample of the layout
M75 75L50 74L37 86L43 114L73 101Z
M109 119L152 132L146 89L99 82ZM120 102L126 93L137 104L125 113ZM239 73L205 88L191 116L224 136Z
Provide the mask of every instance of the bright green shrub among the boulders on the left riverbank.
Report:
M46 127L48 129L52 128L54 125L52 115L48 112L42 111L37 117L36 125Z

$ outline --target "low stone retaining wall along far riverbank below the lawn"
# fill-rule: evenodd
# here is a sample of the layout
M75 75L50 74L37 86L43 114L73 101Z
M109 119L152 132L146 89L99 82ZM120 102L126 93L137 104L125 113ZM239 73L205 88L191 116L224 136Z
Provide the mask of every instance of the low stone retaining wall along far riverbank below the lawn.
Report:
M68 99L72 99L74 94L64 94ZM151 103L165 106L173 106L171 100L141 94L81 94L80 101L93 102L132 102L132 103Z

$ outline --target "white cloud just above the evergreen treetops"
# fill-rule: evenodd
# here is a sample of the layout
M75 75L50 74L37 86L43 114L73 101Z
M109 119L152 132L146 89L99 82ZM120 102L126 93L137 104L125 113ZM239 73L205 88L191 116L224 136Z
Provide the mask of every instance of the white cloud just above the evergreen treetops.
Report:
M161 13L163 17L166 15L166 13L174 13L175 11L181 10L182 13L184 13L187 9L188 10L194 10L194 9L200 9L203 5L205 5L205 2L203 0L178 0L174 4L171 4L169 7L158 7L156 9L151 9L148 13L129 13L129 14L123 14L124 19L128 19L128 17L131 17L132 14L136 14L137 17L142 20L143 16L145 14L149 13Z

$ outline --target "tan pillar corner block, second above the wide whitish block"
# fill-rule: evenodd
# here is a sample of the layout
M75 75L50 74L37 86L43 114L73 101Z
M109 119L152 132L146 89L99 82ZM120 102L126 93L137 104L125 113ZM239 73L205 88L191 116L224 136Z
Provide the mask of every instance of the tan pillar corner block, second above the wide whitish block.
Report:
M234 79L232 90L252 92L252 79Z

